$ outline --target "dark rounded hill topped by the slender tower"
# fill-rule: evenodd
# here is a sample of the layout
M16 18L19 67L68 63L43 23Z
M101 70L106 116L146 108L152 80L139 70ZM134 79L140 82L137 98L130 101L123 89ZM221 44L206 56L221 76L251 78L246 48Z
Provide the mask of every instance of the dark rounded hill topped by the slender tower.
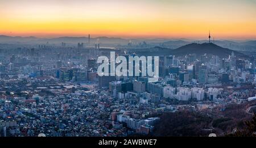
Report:
M201 56L207 53L207 54L213 54L213 55L219 56L220 58L227 58L229 57L229 55L231 55L232 52L234 52L234 54L237 57L249 58L249 56L243 53L240 53L228 48L222 48L221 46L218 46L213 43L203 43L203 44L191 43L176 49L162 48L162 47L156 46L154 48L138 49L137 51L135 51L135 53L143 56L164 56L164 55L185 56L186 54L194 54L194 53L197 56Z

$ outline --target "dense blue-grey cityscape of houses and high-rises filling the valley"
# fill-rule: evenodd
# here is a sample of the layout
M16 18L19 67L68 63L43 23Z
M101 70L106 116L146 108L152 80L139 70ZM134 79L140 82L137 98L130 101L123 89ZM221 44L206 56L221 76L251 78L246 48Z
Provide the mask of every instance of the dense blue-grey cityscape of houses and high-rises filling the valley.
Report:
M217 46L210 35L205 42L189 45ZM159 50L165 48L146 41L101 48L90 35L77 45L1 44L0 136L148 136L163 113L222 112L256 99L256 58L234 50L226 57L159 55L153 83L148 77L97 74L98 56Z

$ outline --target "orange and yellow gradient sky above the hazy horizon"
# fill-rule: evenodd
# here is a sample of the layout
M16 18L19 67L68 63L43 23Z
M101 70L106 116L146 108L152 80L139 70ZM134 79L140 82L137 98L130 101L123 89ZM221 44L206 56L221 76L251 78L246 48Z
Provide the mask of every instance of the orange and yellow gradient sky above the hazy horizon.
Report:
M256 39L256 0L0 0L10 36Z

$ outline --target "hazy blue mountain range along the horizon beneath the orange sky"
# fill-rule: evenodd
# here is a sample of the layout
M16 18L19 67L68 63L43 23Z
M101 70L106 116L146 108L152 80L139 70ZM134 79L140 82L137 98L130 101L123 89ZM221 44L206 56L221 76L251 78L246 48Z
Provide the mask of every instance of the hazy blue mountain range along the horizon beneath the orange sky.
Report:
M91 37L90 43L93 45L95 43L100 43L102 46L118 46L126 48L129 42L134 46L130 46L129 48L137 48L139 43L146 41L147 47L149 48L154 46L159 46L162 48L171 48L176 49L181 46L197 43L203 44L208 43L208 40L189 40L189 39L122 39L119 37ZM88 43L88 37L54 37L54 38L40 38L34 36L21 37L21 36L5 36L0 35L0 44L54 44L61 45L61 43L67 43L68 45L76 45L77 43ZM214 40L212 43L222 46L224 48L237 50L240 52L253 52L256 53L256 40L250 41L231 41L231 40Z

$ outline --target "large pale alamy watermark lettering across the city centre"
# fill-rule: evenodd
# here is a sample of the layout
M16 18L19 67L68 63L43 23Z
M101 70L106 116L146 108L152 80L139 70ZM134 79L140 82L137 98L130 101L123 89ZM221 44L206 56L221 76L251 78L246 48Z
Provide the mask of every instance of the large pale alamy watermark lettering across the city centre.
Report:
M152 56L129 56L127 61L125 56L117 56L115 58L115 52L110 52L110 60L106 56L100 56L98 57L97 63L101 63L97 70L100 77L109 75L118 77L148 76L148 82L157 82L159 78L158 56L154 56L154 63ZM118 65L115 67L115 64Z

